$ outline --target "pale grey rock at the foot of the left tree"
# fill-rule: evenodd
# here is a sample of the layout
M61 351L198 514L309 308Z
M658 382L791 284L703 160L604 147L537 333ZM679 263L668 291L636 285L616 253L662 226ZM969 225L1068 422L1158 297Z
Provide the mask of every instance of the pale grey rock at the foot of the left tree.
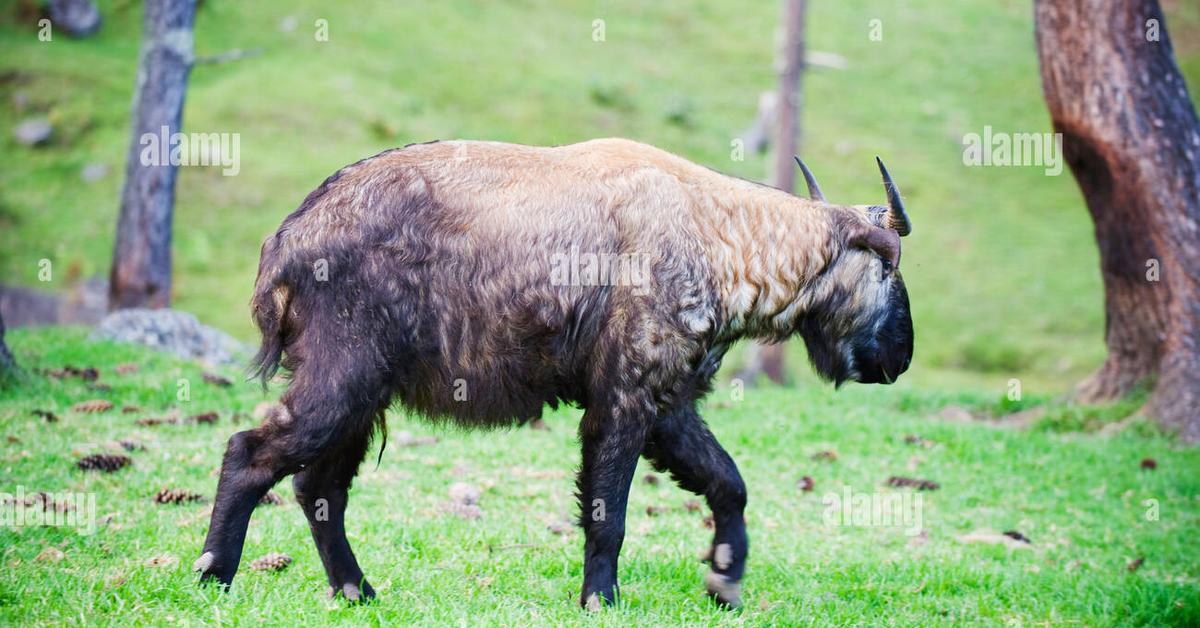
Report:
M248 348L179 310L116 310L96 325L92 340L136 342L209 364L245 364Z

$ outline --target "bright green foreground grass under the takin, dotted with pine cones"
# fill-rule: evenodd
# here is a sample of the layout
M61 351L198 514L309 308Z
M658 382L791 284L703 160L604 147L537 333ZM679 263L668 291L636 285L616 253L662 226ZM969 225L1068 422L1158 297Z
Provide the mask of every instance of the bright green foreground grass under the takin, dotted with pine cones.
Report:
M324 598L325 579L290 485L282 507L260 507L250 527L242 570L229 594L202 588L190 573L208 526L210 503L158 506L161 488L211 500L226 438L251 421L264 399L238 379L218 388L202 370L162 354L94 343L82 330L12 334L29 370L66 364L100 369L110 391L78 379L28 373L20 389L0 391L0 486L94 494L98 530L0 527L0 622L32 623L313 623L344 624L1195 624L1200 622L1200 451L1148 426L1115 433L1063 431L1054 423L1016 429L998 421L949 421L947 406L977 414L1003 403L966 393L851 385L841 391L751 388L744 400L718 389L704 412L738 461L750 491L751 556L744 608L722 611L702 593L696 560L710 531L692 496L670 482L636 482L622 554L623 605L588 616L575 605L582 536L547 530L575 515L578 411L547 418L550 431L434 430L391 413L392 445L376 467L374 451L353 489L348 526L362 567L380 594L347 606ZM118 375L122 363L140 364ZM176 391L186 379L191 400ZM108 399L139 413L84 414L86 399ZM47 424L31 414L49 409ZM217 411L216 425L142 427L136 419ZM1052 412L1062 408L1051 406ZM404 448L401 431L439 442ZM908 444L919 435L932 447ZM11 442L12 438L16 442ZM74 468L80 455L118 451L133 438L145 451L115 474ZM820 450L835 461L817 461ZM1154 459L1156 471L1140 461ZM649 469L638 472L642 478ZM802 492L811 476L816 489ZM908 494L890 476L931 479L922 494L923 543L906 527L828 524L827 495ZM665 478L664 478L665 480ZM482 489L484 515L443 514L448 488ZM1150 500L1158 516L1147 518ZM648 507L666 507L656 516ZM967 544L959 537L1018 530L1027 549ZM61 561L38 561L47 548ZM248 561L281 551L295 562L278 574L251 572ZM146 562L166 556L167 566ZM1136 572L1127 563L1145 562Z

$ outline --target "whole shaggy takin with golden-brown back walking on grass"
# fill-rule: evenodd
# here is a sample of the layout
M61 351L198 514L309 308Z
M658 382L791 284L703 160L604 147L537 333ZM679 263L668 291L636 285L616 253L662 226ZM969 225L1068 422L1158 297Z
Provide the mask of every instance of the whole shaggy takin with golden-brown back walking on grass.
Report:
M202 580L229 585L254 506L294 474L330 593L372 598L344 512L384 411L486 429L565 402L583 409L580 604L617 599L644 456L708 502L704 585L737 605L746 489L697 413L726 351L798 334L841 384L892 383L913 349L911 223L883 163L886 207L826 202L796 161L811 198L624 139L413 144L326 179L263 243L256 364L290 377L229 438Z

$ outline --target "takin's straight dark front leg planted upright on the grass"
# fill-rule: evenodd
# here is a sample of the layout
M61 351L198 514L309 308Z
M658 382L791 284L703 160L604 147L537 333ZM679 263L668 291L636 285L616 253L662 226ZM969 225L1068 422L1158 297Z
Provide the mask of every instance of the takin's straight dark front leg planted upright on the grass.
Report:
M580 425L583 592L580 604L599 610L617 600L617 557L625 539L625 504L637 456L646 442L649 414L588 409Z

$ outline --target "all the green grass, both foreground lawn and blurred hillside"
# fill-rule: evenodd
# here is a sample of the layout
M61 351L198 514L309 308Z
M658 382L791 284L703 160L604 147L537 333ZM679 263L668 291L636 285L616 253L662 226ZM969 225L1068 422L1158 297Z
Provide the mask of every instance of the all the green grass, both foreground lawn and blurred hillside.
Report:
M102 1L104 26L85 41L17 20L0 0L0 280L65 289L107 274L128 143L140 2ZM733 401L722 384L706 417L750 489L751 557L745 606L713 608L696 551L708 543L691 496L638 482L622 562L623 608L575 606L582 538L547 524L575 516L577 411L550 432L432 431L400 413L392 433L440 442L392 445L364 465L349 516L352 542L378 604L328 602L319 560L290 486L264 507L245 558L283 551L280 574L244 569L222 596L188 573L206 504L163 507L163 486L211 498L224 439L274 399L251 384L221 389L198 366L80 330L16 330L26 369L94 365L110 391L30 375L0 390L0 490L82 491L107 521L94 536L61 527L0 528L2 623L466 623L466 624L877 624L1200 623L1200 454L1110 407L1055 401L1103 360L1103 294L1087 213L1069 174L967 168L964 133L985 125L1042 132L1032 10L1015 0L812 2L809 46L844 55L845 70L805 76L803 156L826 193L881 202L872 157L904 190L916 229L904 273L913 300L916 363L887 389L814 385L798 343L794 389L752 388ZM778 2L323 2L206 0L200 55L263 54L194 68L185 127L241 134L241 172L182 168L174 243L180 309L251 341L246 303L262 238L337 168L386 148L433 138L558 144L624 136L731 174L761 179L766 160L731 159L730 142L773 89ZM1168 2L1187 78L1200 84L1200 11ZM292 31L280 29L294 16ZM592 38L605 20L606 41ZM884 40L868 38L869 20ZM330 41L313 40L329 22ZM18 95L28 100L18 112ZM18 146L10 132L47 115L55 139ZM84 184L89 163L107 178ZM53 262L49 283L38 262ZM734 354L724 377L738 366ZM120 376L115 365L140 365ZM238 373L227 373L236 378ZM180 379L191 399L178 399ZM1007 391L1014 381L1020 399ZM83 414L107 397L140 413ZM1018 420L1009 414L1034 411ZM61 418L46 424L32 409ZM221 413L215 426L140 427L178 411ZM962 420L965 413L977 419ZM234 417L240 417L234 424ZM905 442L919 435L936 443ZM148 445L115 476L74 468L119 438ZM833 449L835 462L811 459ZM373 460L374 453L371 454ZM1140 469L1151 457L1157 471ZM646 469L640 471L638 477ZM816 490L797 482L811 476ZM889 476L928 478L928 539L899 527L826 525L822 500L890 495ZM448 486L484 489L479 521L446 516ZM906 491L906 490L905 490ZM904 492L904 491L900 491ZM1146 514L1157 503L1158 518ZM648 516L647 507L670 507ZM1028 549L966 544L980 530L1019 530ZM60 562L38 561L54 546ZM146 561L168 556L164 567ZM1136 572L1128 561L1145 557Z

